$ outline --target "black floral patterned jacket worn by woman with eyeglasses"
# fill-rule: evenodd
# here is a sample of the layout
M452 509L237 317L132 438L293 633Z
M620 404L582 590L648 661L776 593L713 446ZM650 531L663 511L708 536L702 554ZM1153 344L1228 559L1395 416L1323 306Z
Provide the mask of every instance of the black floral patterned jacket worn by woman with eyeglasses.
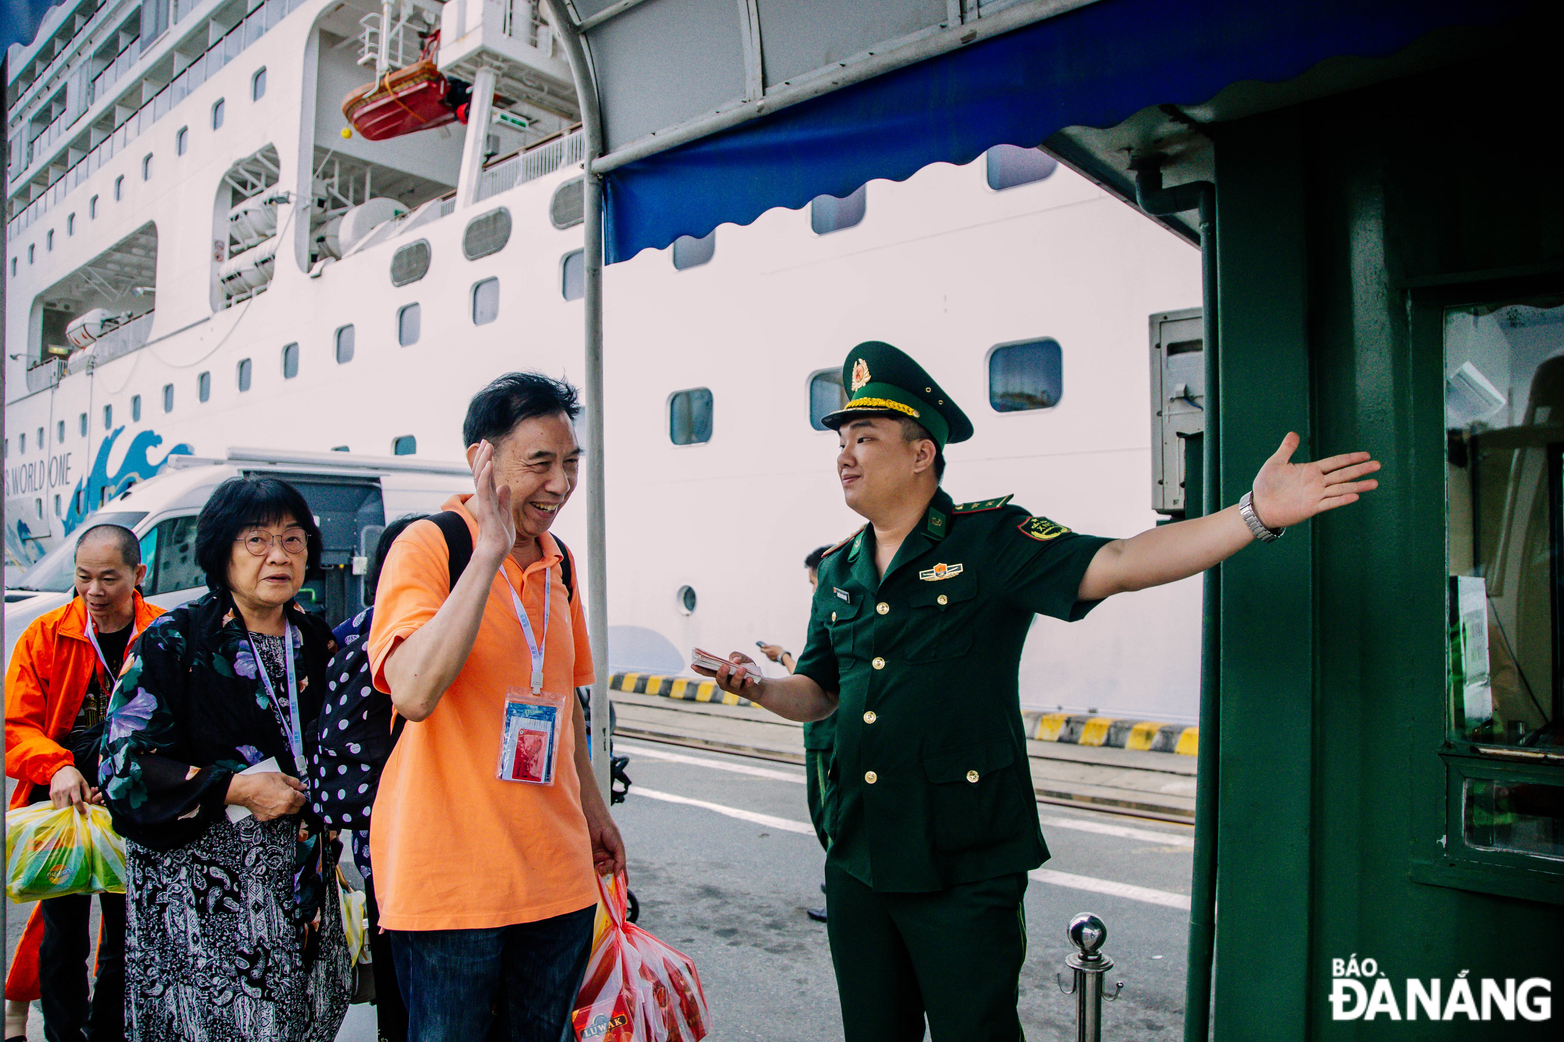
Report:
M297 601L286 612L294 623L299 712L310 756L336 642L325 622ZM120 836L174 850L224 817L228 780L246 767L275 756L286 773L297 773L282 726L288 706L266 694L231 595L213 591L158 617L131 650L109 700L99 769ZM286 686L275 686L286 698ZM299 815L296 862L302 909L319 908L328 867L321 822L308 808L305 801Z

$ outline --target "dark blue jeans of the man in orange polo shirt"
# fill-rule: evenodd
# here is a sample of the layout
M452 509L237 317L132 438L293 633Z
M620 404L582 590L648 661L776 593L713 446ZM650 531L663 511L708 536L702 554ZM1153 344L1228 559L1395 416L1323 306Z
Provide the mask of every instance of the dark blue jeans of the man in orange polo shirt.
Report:
M491 930L388 930L408 1042L572 1037L596 914L593 905Z

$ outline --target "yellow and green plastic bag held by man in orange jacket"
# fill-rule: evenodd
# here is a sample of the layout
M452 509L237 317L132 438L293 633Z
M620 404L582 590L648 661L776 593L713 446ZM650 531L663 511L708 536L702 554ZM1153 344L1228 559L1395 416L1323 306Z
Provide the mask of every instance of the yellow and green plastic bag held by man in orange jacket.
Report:
M17 903L125 892L125 840L102 806L81 814L39 803L8 812L5 865L5 892Z

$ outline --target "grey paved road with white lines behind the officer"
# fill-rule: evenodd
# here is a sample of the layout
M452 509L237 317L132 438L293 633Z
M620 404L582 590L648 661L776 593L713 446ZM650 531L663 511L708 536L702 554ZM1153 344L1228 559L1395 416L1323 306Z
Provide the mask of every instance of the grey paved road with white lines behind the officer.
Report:
M635 784L615 808L630 855L641 925L687 951L712 1005L712 1042L841 1039L823 903L824 855L809 828L802 770L788 764L654 742L616 742ZM1042 806L1053 859L1026 894L1029 951L1021 1022L1032 1042L1074 1037L1074 1000L1054 973L1070 953L1065 923L1092 911L1123 998L1104 1037L1176 1037L1184 1008L1184 940L1192 830L1117 814ZM1085 887L1085 889L1082 889ZM6 909L17 930L27 909ZM14 940L13 940L14 942ZM42 1039L39 1014L30 1039ZM339 1042L372 1042L374 1011L355 1006Z

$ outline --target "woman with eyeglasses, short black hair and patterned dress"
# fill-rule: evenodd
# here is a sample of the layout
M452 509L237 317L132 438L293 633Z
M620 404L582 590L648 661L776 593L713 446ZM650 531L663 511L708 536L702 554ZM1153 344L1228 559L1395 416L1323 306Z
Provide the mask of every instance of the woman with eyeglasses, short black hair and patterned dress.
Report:
M196 523L210 592L138 641L100 781L125 837L127 1036L328 1042L350 965L307 758L335 642L294 597L321 530L286 481L224 481Z

